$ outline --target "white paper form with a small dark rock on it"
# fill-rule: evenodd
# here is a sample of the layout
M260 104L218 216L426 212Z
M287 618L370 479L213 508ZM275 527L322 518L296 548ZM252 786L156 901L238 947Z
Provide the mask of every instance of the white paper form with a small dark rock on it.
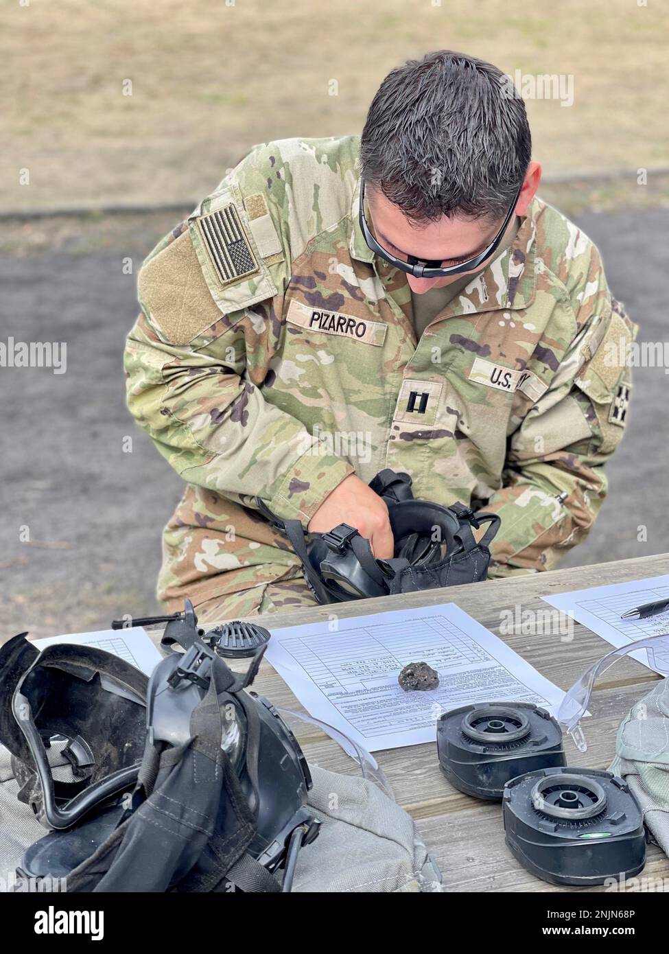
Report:
M443 712L518 700L557 710L564 693L454 603L274 630L264 658L312 716L368 752L433 742ZM405 692L409 662L439 673L438 689Z

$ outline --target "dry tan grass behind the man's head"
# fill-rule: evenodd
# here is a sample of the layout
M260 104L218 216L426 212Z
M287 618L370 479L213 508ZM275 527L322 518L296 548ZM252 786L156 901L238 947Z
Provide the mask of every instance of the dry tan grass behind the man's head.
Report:
M573 106L528 103L549 176L668 161L669 10L656 0L230 3L8 0L2 207L187 204L255 142L359 131L387 71L439 47L574 75Z

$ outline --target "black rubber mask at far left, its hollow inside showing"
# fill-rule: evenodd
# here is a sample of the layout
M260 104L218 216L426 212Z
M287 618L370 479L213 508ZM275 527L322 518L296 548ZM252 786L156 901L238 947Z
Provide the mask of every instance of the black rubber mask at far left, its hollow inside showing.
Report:
M68 828L136 784L148 679L91 646L42 653L21 633L0 648L0 742L18 798L47 827Z

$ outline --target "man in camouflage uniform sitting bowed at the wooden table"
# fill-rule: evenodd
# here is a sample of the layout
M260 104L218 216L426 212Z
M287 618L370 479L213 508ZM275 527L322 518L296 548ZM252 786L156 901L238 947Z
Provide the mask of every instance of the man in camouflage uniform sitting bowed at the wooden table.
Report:
M585 537L627 418L611 355L636 326L540 175L509 78L435 52L388 74L362 137L255 147L158 243L125 367L186 482L168 611L314 602L262 507L391 556L367 487L384 467L499 514L491 576L553 569Z

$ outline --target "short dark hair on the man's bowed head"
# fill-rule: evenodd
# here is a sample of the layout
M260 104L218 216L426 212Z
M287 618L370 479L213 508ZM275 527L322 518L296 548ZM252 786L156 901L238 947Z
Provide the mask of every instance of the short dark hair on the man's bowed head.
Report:
M415 222L502 218L527 173L525 103L491 63L440 50L387 74L361 142L367 185Z

